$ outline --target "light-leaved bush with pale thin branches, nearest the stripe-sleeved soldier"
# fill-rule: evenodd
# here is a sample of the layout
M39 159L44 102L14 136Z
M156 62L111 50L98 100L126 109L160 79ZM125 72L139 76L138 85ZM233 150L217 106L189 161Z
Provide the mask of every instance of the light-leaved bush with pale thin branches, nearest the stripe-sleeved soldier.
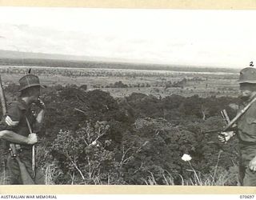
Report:
M102 140L109 128L106 122L86 122L75 132L60 130L50 148L58 168L62 169L58 184L123 183L115 170L118 162L114 161L113 152L106 150L111 140Z

